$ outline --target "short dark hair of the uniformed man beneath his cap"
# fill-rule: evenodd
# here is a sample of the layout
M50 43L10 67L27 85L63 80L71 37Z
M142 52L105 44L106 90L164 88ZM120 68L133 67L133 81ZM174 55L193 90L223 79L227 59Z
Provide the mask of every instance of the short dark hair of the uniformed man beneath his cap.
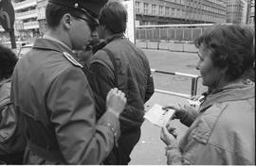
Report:
M66 13L69 13L72 16L82 16L82 11L78 9L48 3L46 6L46 23L48 27L53 28L60 25L61 20Z

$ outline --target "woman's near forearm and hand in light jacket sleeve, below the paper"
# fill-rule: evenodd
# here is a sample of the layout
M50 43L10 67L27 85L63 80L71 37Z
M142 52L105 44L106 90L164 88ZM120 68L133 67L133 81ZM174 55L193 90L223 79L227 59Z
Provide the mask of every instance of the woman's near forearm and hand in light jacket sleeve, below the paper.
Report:
M232 152L218 146L212 138L209 138L211 131L205 121L196 121L188 132L178 145L173 127L168 125L162 127L160 137L167 144L168 164L224 165L228 163L227 158L232 158Z

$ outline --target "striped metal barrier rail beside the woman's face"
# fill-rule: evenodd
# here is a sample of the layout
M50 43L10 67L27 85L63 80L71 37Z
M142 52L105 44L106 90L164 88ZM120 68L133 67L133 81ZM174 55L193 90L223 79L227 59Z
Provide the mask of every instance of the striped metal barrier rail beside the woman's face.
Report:
M155 73L155 74L180 75L180 76L187 76L187 77L191 77L191 78L192 78L191 94L184 94L184 93L179 93L179 92L174 92L174 91L163 91L163 90L157 90L157 89L155 89L156 92L165 93L165 94L171 94L171 95L176 95L176 96L180 96L180 97L184 97L184 98L191 98L193 95L196 95L198 79L199 79L201 76L198 76L198 75L190 75L190 74L183 74L183 73L179 73L179 72L159 71L159 70L155 70L155 69L151 69L151 72L152 72L152 73Z

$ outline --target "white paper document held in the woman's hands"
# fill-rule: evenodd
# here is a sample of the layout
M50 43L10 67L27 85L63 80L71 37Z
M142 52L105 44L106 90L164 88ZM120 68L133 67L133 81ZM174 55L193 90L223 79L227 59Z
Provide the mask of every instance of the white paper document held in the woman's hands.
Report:
M174 117L174 109L162 109L160 105L155 104L144 115L144 118L152 124L162 127Z

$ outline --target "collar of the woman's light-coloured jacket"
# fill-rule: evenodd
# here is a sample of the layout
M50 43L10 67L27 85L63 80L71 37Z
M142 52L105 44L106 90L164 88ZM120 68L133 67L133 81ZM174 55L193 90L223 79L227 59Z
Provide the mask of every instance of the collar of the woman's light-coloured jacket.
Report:
M201 105L201 110L209 108L213 103L223 103L235 100L246 100L255 97L255 84L249 79L229 83L226 87L211 92Z

